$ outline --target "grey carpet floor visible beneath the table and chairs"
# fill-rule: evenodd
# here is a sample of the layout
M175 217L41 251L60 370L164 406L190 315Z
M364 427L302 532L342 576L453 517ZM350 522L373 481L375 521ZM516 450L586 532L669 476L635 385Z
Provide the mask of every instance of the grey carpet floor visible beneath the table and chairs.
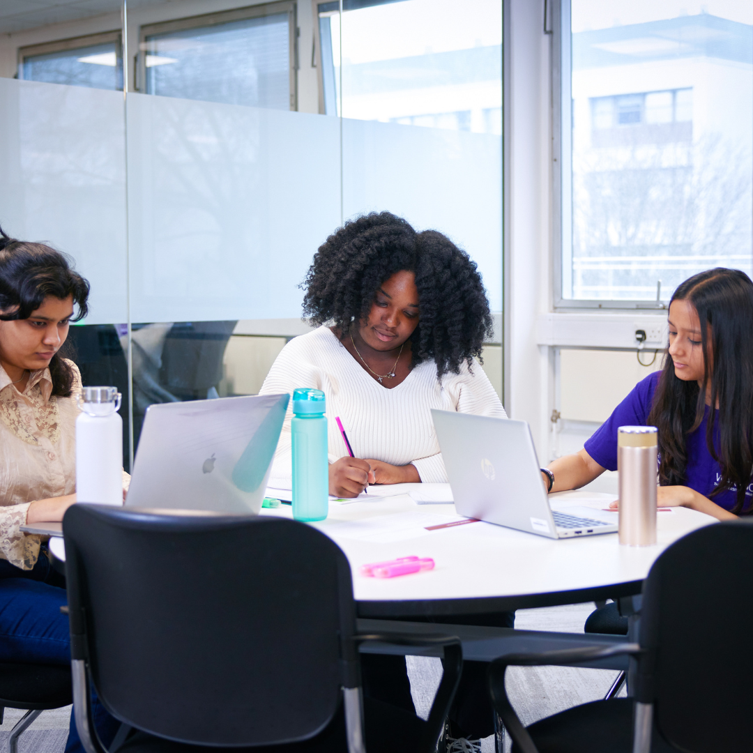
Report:
M582 633L593 603L517 612L515 626L527 630L556 630ZM434 699L442 667L438 659L408 657L408 674L416 710L424 718ZM550 714L604 697L616 672L605 669L570 667L512 667L508 670L508 691L520 718L531 724ZM623 691L624 693L624 691ZM42 712L20 738L20 753L62 753L66 747L71 707ZM8 744L11 727L23 716L16 709L5 709L0 725L0 747ZM509 740L506 750L509 751ZM494 753L492 738L482 742L483 753Z

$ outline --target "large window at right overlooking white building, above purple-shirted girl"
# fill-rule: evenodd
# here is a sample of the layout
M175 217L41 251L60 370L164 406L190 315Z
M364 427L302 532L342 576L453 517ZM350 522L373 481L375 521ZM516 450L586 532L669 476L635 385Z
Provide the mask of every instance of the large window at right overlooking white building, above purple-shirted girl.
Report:
M753 5L562 0L556 303L753 273Z

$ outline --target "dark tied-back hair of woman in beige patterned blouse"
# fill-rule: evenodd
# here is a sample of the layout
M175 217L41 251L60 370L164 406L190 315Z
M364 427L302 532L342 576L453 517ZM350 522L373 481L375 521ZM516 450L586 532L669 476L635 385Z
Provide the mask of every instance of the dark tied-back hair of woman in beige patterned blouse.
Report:
M89 283L73 269L66 255L43 243L29 243L8 236L0 227L0 321L29 319L44 299L72 296L78 313L72 322L87 316ZM69 398L74 372L59 350L50 361L52 394Z

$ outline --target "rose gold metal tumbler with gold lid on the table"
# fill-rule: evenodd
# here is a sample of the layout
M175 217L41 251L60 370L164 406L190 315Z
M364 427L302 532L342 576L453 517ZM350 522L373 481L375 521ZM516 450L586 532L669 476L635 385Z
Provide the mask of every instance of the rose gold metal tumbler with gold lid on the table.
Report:
M617 429L620 472L620 544L647 547L657 543L657 428Z

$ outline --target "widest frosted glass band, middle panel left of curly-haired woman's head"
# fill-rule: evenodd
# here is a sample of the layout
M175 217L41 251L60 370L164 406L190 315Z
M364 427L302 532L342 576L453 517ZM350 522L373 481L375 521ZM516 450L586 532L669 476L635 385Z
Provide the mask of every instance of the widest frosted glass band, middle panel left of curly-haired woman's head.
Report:
M132 321L299 317L339 154L335 118L130 94Z

